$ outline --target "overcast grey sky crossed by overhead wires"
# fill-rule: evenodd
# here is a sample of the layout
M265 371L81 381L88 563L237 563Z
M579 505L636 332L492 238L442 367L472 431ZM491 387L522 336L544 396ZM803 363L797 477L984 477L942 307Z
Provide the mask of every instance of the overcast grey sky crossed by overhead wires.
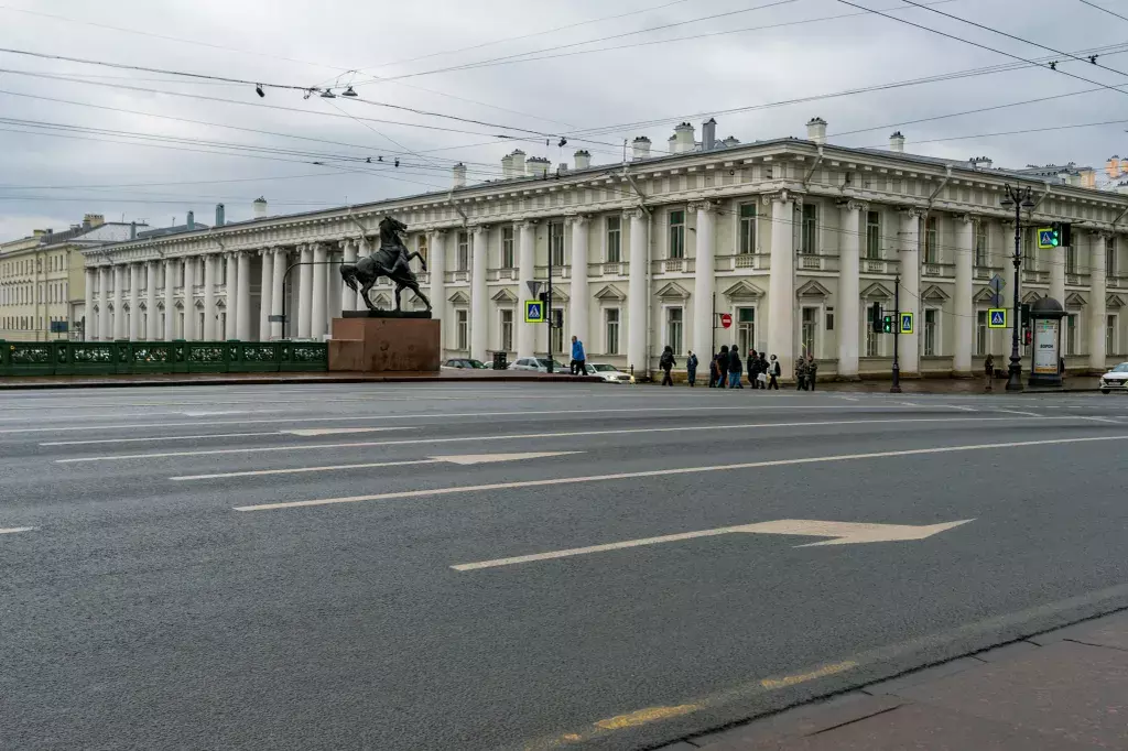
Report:
M851 1L1020 58L1054 54L901 0ZM1123 0L1092 2L1128 16ZM1082 0L933 7L1061 52L1120 43L1128 52L1128 20ZM826 20L795 23L810 19ZM646 30L654 27L666 28ZM488 179L518 147L554 164L587 148L593 162L610 164L620 159L624 139L649 135L658 151L679 120L691 120L699 138L702 115L713 113L720 136L746 142L804 136L805 122L821 116L832 143L879 147L896 126L908 151L989 156L1010 167L1102 167L1121 151L1128 124L1125 116L1125 123L986 135L1122 117L1128 94L1099 88L1128 85L1128 54L1114 52L1098 62L1123 74L1059 56L1059 71L1093 83L1026 67L721 114L1016 63L837 0L11 0L0 8L0 46L337 94L352 83L360 95L303 98L267 87L261 98L253 85L0 53L2 240L64 229L83 213L161 227L183 223L193 210L211 224L217 202L229 220L243 220L259 195L276 214L446 188L453 160L469 166L472 180ZM618 48L593 52L606 47ZM527 60L536 56L546 59ZM493 62L440 71L484 61ZM907 123L1086 89L1098 90ZM874 130L845 134L862 129ZM561 135L569 138L563 149ZM938 140L968 135L977 138Z

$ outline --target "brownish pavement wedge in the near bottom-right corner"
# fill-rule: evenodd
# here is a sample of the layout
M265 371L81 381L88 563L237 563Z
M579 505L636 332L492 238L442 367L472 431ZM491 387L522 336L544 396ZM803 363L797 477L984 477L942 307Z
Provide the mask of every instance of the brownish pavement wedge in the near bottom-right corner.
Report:
M1128 749L1128 611L662 746L696 749Z

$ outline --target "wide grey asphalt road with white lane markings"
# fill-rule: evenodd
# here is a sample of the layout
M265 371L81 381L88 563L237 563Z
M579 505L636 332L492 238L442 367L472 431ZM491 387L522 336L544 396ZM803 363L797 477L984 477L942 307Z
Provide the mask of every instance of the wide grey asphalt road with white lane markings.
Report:
M1126 449L1101 395L6 392L0 748L651 748L1128 606ZM649 540L779 520L966 523Z

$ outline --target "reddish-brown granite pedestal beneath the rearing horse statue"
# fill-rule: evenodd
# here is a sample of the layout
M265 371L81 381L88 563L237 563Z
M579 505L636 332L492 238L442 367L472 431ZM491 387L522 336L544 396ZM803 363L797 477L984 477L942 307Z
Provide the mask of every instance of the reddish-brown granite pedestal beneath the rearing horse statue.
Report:
M353 312L353 311L349 311ZM363 316L333 319L329 370L364 373L438 373L441 364L440 323L405 317ZM379 311L385 312L385 311ZM394 311L391 311L394 312Z

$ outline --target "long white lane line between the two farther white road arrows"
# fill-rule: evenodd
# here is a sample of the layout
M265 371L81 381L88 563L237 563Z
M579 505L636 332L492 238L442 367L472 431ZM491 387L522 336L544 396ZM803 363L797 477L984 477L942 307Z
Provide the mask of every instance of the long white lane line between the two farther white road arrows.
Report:
M904 417L891 419L826 419L808 423L744 423L724 425L725 430L769 427L821 427L826 425L869 425L889 423L957 423L957 422L1016 422L1016 417ZM1076 419L1075 417L1042 417L1042 419ZM411 445L417 443L460 443L466 441L525 441L546 438L572 438L578 435L623 435L629 433L680 433L689 431L715 431L717 425L678 425L676 427L622 427L606 431L562 431L557 433L519 433L505 435L467 435L458 438L405 439L402 441L358 441L354 443L293 443L287 445L247 447L241 449L204 449L201 451L164 451L157 453L126 453L108 457L76 457L55 459L56 465L73 465L88 461L121 461L125 459L167 459L169 457L210 457L236 453L265 453L276 451L318 451L327 449L367 449L377 445Z

